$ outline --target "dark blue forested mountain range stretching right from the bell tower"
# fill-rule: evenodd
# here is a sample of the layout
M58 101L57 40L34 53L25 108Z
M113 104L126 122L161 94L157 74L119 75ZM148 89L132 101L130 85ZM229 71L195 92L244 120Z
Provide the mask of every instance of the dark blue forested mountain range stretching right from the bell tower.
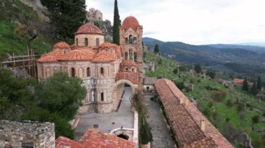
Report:
M158 44L160 54L176 57L174 60L185 63L200 63L218 70L246 74L265 74L265 54L262 47L211 44L192 45L183 42L162 42L153 38L143 38L143 42L154 48Z

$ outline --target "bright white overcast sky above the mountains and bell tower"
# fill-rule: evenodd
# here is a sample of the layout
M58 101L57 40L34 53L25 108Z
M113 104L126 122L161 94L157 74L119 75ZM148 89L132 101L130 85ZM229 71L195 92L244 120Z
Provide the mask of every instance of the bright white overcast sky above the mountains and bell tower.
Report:
M130 15L144 37L189 44L265 42L265 0L118 0L121 21ZM114 0L86 0L87 9L113 22Z

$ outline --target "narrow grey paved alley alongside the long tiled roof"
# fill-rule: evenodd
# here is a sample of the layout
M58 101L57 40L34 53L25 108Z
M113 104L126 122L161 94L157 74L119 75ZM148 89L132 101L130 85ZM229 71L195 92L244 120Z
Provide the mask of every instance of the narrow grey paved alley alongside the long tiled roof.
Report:
M151 126L151 132L153 135L151 147L174 147L174 142L170 137L169 131L167 130L167 124L165 123L162 113L160 112L158 103L151 101L151 97L152 96L150 95L144 96L144 101L149 111L149 118L147 118L147 122L149 122L149 125Z

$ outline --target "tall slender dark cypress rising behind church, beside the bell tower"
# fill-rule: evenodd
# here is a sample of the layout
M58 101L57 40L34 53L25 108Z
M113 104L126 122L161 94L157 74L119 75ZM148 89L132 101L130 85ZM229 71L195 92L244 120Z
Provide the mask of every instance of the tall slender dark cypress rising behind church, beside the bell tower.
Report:
M120 44L120 30L119 26L121 25L118 2L115 0L114 3L114 22L113 22L113 43Z

